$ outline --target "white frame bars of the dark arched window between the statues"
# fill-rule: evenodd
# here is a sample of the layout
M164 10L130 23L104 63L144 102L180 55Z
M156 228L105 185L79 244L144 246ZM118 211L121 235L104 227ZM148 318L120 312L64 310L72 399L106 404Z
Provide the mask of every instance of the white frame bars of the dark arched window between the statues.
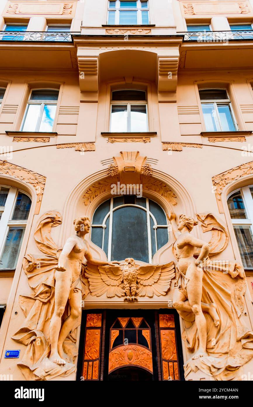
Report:
M95 209L95 211L93 213L93 219L92 219L92 225L91 225L91 233L92 233L92 230L94 228L100 228L100 229L103 228L102 247L101 248L102 248L102 250L104 250L106 252L106 255L108 257L108 261L116 260L115 258L112 259L112 232L113 232L112 219L113 219L113 213L115 211L121 209L121 208L127 208L127 207L139 208L140 210L143 210L146 213L146 220L147 220L148 259L145 260L145 261L147 261L148 263L152 263L152 257L154 256L154 254L156 254L156 252L158 252L158 249L161 249L164 245L166 245L168 243L169 239L170 239L168 222L167 222L166 214L165 214L163 208L156 201L154 201L154 199L149 199L147 197L143 197L145 199L145 203L144 203L145 207L143 205L138 204L138 198L135 199L135 203L131 203L131 204L123 203L123 204L119 204L119 205L115 206L114 198L116 198L116 196L103 201ZM117 198L122 198L122 200L123 200L122 195L117 197ZM99 223L99 224L98 223L93 223L96 211L99 209L99 207L101 207L102 204L106 204L106 202L108 202L108 201L110 201L110 209L106 213L106 215L104 216L104 219L103 219L102 223ZM157 223L156 217L151 212L151 210L149 208L150 202L152 202L152 204L155 204L156 206L158 206L160 208L160 210L161 210L161 213L163 213L165 222L162 225ZM151 219L150 218L152 219L152 221L154 223L153 225L151 225ZM107 223L107 225L106 225L106 223ZM109 229L108 230L108 241L106 242L106 245L104 245L106 228ZM154 233L153 233L152 229L154 230ZM162 244L162 245L159 244L159 247L158 247L157 230L160 230L160 229L167 229L168 235L167 235L167 241L165 242L165 240L164 240L164 244ZM153 240L152 240L152 237L153 237ZM165 235L163 236L163 239L166 239ZM106 246L106 248L105 248L105 246ZM122 259L119 258L117 260L123 260L123 258Z

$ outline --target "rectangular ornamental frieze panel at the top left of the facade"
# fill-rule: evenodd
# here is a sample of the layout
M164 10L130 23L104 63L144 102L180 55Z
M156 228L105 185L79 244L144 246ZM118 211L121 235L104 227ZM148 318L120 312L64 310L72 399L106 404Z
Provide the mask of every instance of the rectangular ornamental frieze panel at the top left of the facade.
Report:
M44 15L70 15L73 10L73 2L22 2L9 3L7 14L44 14Z

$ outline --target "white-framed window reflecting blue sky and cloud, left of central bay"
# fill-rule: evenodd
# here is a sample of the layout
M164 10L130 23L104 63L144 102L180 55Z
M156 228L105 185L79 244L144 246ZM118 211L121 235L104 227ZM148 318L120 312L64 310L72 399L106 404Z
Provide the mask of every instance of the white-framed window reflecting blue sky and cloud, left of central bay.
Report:
M59 91L55 89L32 90L21 131L48 131L51 132L54 125Z

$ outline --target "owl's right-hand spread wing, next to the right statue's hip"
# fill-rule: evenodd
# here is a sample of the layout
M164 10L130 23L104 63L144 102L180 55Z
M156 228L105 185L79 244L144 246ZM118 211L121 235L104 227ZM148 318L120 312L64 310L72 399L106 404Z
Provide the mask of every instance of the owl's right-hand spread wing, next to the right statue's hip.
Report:
M174 262L162 265L142 265L138 267L136 294L140 297L152 298L165 295L171 286L171 280L175 277Z

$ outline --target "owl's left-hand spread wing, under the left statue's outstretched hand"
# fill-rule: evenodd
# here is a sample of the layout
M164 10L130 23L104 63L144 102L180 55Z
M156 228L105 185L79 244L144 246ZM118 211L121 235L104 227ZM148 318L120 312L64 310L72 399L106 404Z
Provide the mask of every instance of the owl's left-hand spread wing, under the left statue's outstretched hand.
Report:
M100 297L106 293L108 298L122 297L125 291L122 283L122 270L119 266L97 266L86 264L85 276L89 280L91 295Z

